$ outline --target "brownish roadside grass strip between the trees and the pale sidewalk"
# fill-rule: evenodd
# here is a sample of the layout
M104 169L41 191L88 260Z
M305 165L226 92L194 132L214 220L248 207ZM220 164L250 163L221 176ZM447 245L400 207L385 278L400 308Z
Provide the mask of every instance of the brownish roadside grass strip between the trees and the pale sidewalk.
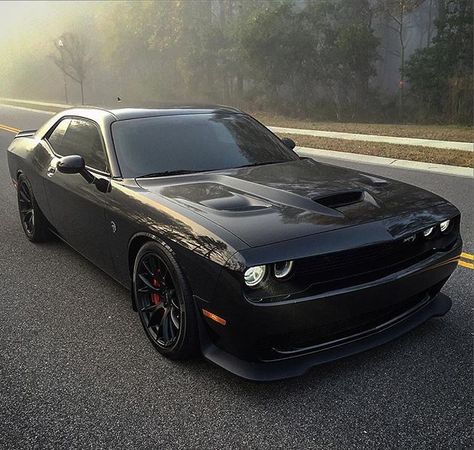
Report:
M252 112L260 122L267 126L303 128L343 133L374 134L440 141L474 142L474 128L462 125L402 125L378 123L313 122L293 119L278 114Z

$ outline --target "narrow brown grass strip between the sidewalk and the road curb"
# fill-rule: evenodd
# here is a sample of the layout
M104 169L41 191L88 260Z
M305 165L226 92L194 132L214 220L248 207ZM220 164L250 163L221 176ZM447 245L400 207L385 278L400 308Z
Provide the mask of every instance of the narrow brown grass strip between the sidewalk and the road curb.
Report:
M287 133L278 133L278 136L293 139L299 147L449 164L452 166L474 167L474 152L435 149L414 145L385 144L382 142L349 141L347 139L320 138Z

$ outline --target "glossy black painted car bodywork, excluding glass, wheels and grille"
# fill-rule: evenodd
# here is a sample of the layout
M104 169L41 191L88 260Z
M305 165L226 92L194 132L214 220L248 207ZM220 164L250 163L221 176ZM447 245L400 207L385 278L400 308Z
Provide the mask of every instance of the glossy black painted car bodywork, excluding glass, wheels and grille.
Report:
M449 309L436 295L461 253L459 211L432 193L305 158L189 175L122 178L112 123L222 111L241 114L231 108L66 110L12 142L11 178L24 174L53 231L127 288L140 246L150 239L166 242L192 288L204 355L243 377L297 375L316 363L385 342ZM93 178L89 182L81 171L64 173L64 157L47 141L48 132L68 117L92 121L102 136L108 172L87 167ZM74 157L69 162L73 172L80 165ZM448 240L433 244L422 260L375 279L336 283L324 292L293 280L296 284L284 298L266 284L261 297L272 299L270 303L255 301L243 283L250 266L399 242L446 219L456 222ZM202 308L227 324L203 317ZM364 322L372 316L377 316L379 328L375 319ZM393 326L381 327L394 318ZM351 320L352 328L347 325ZM346 335L336 339L334 330L342 322ZM370 345L355 345L354 339L362 339L358 333L368 330ZM334 339L340 352L327 346Z

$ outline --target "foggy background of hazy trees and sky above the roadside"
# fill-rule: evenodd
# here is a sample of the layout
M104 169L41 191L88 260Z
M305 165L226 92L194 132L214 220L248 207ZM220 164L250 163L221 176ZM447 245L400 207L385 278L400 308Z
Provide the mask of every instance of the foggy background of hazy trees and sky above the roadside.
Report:
M445 33L452 23L461 37ZM0 97L212 102L337 121L472 118L466 0L4 1L0 58Z

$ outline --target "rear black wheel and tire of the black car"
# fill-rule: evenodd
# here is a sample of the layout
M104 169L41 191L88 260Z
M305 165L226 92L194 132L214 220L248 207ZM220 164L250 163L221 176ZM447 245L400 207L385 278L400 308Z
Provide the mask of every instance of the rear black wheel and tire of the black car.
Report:
M49 224L36 203L29 180L22 174L17 183L18 211L21 226L31 242L46 242L51 238Z

